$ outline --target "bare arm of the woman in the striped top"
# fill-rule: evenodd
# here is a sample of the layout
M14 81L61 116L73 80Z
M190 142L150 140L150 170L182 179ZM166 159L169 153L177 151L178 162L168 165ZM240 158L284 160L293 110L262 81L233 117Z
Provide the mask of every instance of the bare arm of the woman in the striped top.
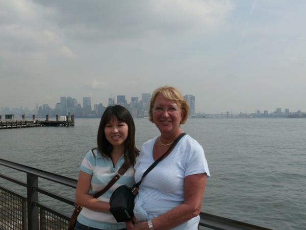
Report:
M75 202L96 212L109 212L110 204L108 202L100 201L89 195L91 177L92 175L80 171Z

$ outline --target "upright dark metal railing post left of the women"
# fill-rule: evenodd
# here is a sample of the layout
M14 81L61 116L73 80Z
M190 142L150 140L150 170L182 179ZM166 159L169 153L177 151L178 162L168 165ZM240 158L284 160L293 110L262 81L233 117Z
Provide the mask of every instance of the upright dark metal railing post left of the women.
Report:
M34 202L38 202L38 192L34 187L38 187L38 176L27 173L27 198L28 198L28 229L39 229L38 206Z

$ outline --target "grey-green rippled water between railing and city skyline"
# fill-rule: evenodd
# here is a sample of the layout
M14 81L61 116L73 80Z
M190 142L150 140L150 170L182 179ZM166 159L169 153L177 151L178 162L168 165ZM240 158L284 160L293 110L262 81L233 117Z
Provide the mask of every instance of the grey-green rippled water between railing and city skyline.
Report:
M135 124L139 148L159 134L146 119ZM0 130L0 157L78 178L98 125L99 119L75 119L74 127ZM211 172L202 212L306 229L306 119L188 119L182 127L203 146Z

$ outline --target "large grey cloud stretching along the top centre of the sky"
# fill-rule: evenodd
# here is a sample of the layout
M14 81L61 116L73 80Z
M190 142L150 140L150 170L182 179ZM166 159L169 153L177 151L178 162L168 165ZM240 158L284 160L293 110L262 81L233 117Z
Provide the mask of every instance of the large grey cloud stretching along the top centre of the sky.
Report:
M52 9L46 20L55 22L67 37L84 42L137 43L191 32L210 33L221 27L233 10L228 0L33 2Z

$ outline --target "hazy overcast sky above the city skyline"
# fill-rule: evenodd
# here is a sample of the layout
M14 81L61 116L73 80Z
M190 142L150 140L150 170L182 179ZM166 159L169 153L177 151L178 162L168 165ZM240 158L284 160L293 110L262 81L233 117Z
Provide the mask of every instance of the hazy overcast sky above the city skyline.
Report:
M305 0L0 0L0 107L162 85L196 112L306 112Z

